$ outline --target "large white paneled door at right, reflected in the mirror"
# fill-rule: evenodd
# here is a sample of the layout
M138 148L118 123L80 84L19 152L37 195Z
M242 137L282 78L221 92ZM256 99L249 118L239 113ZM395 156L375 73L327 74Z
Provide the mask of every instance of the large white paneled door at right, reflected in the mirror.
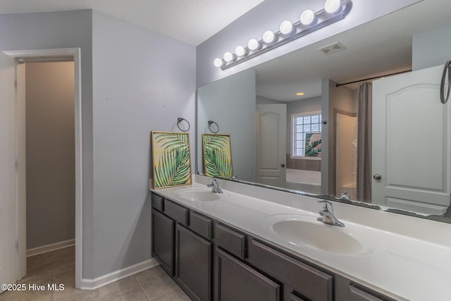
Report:
M450 104L443 66L373 82L372 202L425 214L450 205Z

